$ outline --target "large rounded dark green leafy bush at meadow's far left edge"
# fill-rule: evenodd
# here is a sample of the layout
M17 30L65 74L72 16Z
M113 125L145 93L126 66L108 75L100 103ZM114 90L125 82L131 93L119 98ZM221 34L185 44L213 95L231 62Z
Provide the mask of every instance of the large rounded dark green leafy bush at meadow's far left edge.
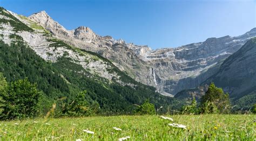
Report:
M39 114L39 98L42 93L37 89L37 84L32 84L28 79L11 82L6 93L1 93L3 109L1 119L15 119L36 117Z

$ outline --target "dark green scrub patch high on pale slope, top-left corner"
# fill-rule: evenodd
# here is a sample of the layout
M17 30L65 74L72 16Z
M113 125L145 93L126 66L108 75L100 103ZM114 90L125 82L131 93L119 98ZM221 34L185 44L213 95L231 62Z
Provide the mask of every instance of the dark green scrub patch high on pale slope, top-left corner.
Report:
M10 24L14 31L29 31L33 32L33 29L31 29L29 26L25 25L24 23L20 22L15 16L11 15L10 13L6 12L6 10L2 7L0 7L0 15L6 16L10 19L0 19L0 23L3 24Z

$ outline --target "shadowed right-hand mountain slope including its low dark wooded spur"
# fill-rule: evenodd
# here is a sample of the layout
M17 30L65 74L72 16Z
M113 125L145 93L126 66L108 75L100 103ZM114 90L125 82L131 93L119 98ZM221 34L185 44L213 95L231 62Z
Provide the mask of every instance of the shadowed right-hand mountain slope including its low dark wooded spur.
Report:
M230 94L236 108L250 108L256 103L256 38L252 38L237 52L230 55L219 67L217 73L201 84L214 82ZM200 98L207 87L197 87L180 91L175 97L180 100ZM200 93L201 91L201 93Z

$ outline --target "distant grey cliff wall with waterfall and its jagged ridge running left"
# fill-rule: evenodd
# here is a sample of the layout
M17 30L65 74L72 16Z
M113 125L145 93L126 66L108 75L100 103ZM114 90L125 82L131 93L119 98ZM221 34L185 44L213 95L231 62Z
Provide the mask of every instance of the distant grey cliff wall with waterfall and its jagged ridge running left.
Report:
M256 36L256 29L252 29L238 37L209 38L201 43L178 48L151 50L147 46L127 44L122 39L98 36L89 27L66 30L45 11L29 18L45 27L56 38L110 59L134 79L154 86L159 93L169 96L183 89L197 87L217 72L224 59Z

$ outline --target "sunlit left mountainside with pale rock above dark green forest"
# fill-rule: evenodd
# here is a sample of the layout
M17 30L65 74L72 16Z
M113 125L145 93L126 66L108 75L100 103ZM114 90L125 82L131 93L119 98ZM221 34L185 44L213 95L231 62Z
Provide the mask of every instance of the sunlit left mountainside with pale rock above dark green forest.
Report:
M28 77L37 82L45 102L66 97L63 102L69 103L82 90L106 114L132 112L133 104L147 98L157 107L177 102L134 81L111 61L56 39L24 16L0 8L0 17L0 72L8 81Z

